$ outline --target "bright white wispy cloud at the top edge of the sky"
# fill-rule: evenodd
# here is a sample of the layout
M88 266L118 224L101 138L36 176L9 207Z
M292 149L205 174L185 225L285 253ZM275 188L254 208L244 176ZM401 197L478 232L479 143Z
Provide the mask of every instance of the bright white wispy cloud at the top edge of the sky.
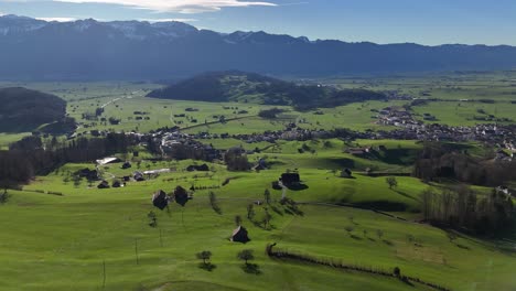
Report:
M218 11L225 7L276 7L267 1L241 0L53 0L55 2L71 3L107 3L119 4L137 9L147 9L157 12L202 13Z

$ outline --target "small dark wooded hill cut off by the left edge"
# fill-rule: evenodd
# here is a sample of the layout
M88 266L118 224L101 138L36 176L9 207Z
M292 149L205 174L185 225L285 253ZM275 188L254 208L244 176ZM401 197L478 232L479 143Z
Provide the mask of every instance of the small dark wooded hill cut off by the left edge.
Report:
M66 101L20 87L0 88L0 132L33 131L65 119Z

